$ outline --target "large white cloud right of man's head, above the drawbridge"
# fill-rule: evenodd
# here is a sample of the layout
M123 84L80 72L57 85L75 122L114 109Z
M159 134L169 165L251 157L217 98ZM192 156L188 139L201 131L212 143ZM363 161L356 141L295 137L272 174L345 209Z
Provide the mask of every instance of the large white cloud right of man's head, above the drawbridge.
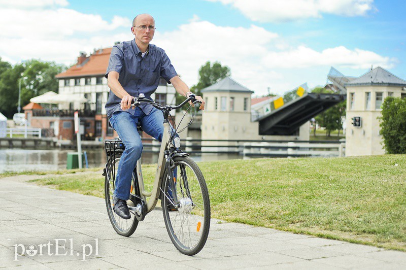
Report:
M282 93L304 82L311 87L323 84L331 65L361 69L363 73L371 64L389 69L397 63L394 58L344 46L322 51L303 45L292 47L262 27L224 27L208 21L157 32L153 43L166 50L189 86L197 82L202 64L217 60L230 67L236 81L263 94L267 87Z

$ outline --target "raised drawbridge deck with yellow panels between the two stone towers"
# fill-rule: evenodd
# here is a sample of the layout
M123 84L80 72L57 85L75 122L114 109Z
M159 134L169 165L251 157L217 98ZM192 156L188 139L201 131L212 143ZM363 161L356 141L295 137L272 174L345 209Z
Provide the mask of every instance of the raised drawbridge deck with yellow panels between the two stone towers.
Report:
M331 67L327 84L334 93L309 93L307 84L253 105L251 121L259 122L261 135L297 135L299 127L328 108L346 99L345 77Z

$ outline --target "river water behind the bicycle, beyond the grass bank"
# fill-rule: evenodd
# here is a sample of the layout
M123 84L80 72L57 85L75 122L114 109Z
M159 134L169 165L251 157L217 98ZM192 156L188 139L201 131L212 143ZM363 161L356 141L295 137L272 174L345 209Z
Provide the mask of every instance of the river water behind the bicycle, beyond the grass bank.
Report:
M56 171L66 168L67 153L75 150L33 150L33 149L0 149L0 173L21 172L21 171ZM103 168L106 164L106 153L104 149L86 151L89 168ZM224 159L241 159L240 155L229 154L204 154L202 156L191 156L196 161L213 161ZM158 154L143 153L141 161L143 164L156 163Z

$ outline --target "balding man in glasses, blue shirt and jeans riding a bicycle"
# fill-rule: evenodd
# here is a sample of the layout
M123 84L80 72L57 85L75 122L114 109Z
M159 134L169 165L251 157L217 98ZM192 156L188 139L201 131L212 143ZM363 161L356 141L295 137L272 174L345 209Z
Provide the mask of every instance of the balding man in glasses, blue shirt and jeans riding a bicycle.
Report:
M110 88L107 115L125 146L118 165L113 201L114 212L124 219L130 218L126 200L129 199L132 172L143 149L137 126L159 142L163 133L162 112L149 104L131 108L134 96L143 93L151 99L160 77L172 83L179 94L185 97L192 94L165 51L150 44L155 33L154 18L149 14L137 15L132 21L131 32L135 36L133 40L113 47L106 71ZM200 110L204 110L203 99L195 98L201 102Z

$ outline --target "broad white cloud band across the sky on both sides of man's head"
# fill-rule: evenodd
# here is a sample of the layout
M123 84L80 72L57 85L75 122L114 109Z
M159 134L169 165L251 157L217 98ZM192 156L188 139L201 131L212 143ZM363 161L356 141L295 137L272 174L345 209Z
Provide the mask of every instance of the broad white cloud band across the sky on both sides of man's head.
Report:
M128 18L116 16L108 22L66 8L2 9L0 56L13 64L31 58L73 64L80 51L91 53L132 39L130 25ZM364 71L371 64L390 68L397 61L362 48L317 51L292 46L262 27L217 26L197 16L173 31L157 31L152 43L165 49L189 86L197 83L202 64L220 61L230 67L236 81L256 94L266 93L267 87L282 93L303 82L322 84L330 65Z

